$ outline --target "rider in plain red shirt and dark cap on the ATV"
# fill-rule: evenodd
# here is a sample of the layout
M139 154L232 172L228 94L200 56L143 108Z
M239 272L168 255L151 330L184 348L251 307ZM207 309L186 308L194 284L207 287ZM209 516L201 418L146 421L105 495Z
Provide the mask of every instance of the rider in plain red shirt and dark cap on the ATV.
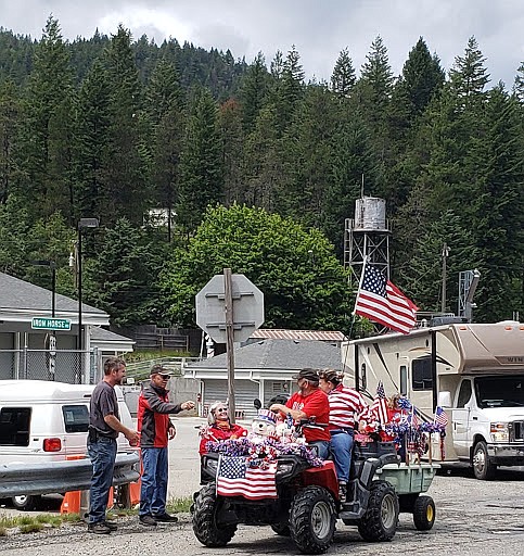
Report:
M330 448L330 402L328 395L319 388L319 376L315 369L302 369L293 377L297 381L298 392L294 393L283 404L272 404L270 409L280 413L284 417L291 415L295 421L311 419L315 417L317 425L323 428L304 428L306 442L310 446L317 446L319 457L325 459Z

